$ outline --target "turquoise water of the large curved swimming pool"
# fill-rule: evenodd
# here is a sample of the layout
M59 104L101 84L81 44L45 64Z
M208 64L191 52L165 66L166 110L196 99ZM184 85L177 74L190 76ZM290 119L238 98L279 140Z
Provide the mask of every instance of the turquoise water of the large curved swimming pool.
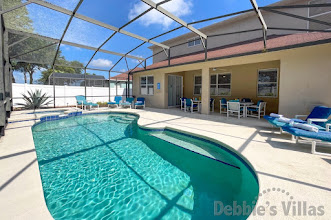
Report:
M214 201L256 199L256 176L238 156L178 132L141 129L137 120L130 114L91 114L32 128L54 219L219 219Z

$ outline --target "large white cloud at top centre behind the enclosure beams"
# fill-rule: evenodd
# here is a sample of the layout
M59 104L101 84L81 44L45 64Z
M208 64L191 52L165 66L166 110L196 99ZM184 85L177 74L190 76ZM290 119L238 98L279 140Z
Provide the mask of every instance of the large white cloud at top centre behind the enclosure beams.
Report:
M162 0L154 0L154 2L156 3L161 1ZM192 0L172 0L162 5L162 7L171 12L173 15L181 17L191 14L193 4ZM133 7L130 9L129 19L133 19L142 12L146 11L148 8L149 6L143 2L138 2L134 4ZM139 18L138 21L144 26L149 26L151 24L160 24L164 28L168 28L174 22L172 19L166 17L165 15L161 14L156 10L148 12L147 14Z

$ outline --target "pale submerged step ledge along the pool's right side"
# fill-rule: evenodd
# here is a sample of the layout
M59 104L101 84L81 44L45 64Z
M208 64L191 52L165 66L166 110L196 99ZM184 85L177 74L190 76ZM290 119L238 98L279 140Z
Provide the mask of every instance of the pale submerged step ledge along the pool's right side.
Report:
M178 138L169 136L165 133L154 133L154 134L150 134L150 135L153 136L153 137L156 137L158 139L161 139L163 141L166 141L168 143L174 144L178 147L187 149L189 151L198 153L198 154L203 155L205 157L208 157L210 159L217 160L217 161L219 161L221 163L224 163L226 165L229 165L229 166L232 166L234 168L240 169L238 166L235 166L235 165L232 165L230 163L225 162L221 156L217 156L217 154L215 154L215 153L211 154L207 149L203 149L202 147L200 147L196 144L189 143L185 140L180 140Z

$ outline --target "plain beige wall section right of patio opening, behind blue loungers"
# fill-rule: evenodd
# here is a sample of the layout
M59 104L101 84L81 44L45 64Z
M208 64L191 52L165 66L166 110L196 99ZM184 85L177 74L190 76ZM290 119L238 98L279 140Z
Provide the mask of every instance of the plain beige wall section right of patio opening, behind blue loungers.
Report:
M309 113L315 105L331 107L331 47L288 51L281 60L279 111Z

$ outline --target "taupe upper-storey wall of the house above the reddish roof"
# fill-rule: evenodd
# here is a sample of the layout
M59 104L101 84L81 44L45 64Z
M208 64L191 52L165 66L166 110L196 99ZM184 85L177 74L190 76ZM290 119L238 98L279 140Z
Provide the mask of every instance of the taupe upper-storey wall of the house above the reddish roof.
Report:
M323 0L326 1L326 0ZM283 5L293 5L293 4L308 4L309 0L297 0L297 1L287 1L289 3L284 3ZM320 3L320 2L319 2ZM281 9L280 11L291 13L295 15L300 15L303 17L308 17L308 8L295 8L295 9ZM306 29L308 26L308 22L305 20L292 18L284 15L274 14L271 12L267 12L262 10L263 17L268 27L278 27L278 28L300 28ZM331 15L331 14L330 14ZM314 23L315 24L315 23ZM315 27L315 26L314 26ZM316 29L325 29L325 26L315 27ZM260 29L254 32L247 33L239 33L232 35L224 35L217 37L208 37L207 46L208 49L217 48L221 46L231 45L238 42L253 40L257 38L262 38L262 30L261 24L255 14L255 12L250 12L244 15L237 16L236 18L228 19L222 21L220 23L216 23L205 28L200 29L206 35L215 35L215 34L224 34L236 31L244 31L250 29ZM285 30L268 30L268 36L272 35L284 35L284 34L292 34L297 33L297 31L285 31ZM191 54L199 51L203 51L203 46L196 45L193 47L188 47L187 42L197 37L194 33L188 33L168 41L162 42L165 45L170 47L178 44L182 44L180 46L171 48L171 57L182 56L186 54ZM162 49L157 46L150 47L153 50L153 54L160 52ZM167 57L165 53L159 53L153 57L153 62L157 63L163 60L166 60Z

